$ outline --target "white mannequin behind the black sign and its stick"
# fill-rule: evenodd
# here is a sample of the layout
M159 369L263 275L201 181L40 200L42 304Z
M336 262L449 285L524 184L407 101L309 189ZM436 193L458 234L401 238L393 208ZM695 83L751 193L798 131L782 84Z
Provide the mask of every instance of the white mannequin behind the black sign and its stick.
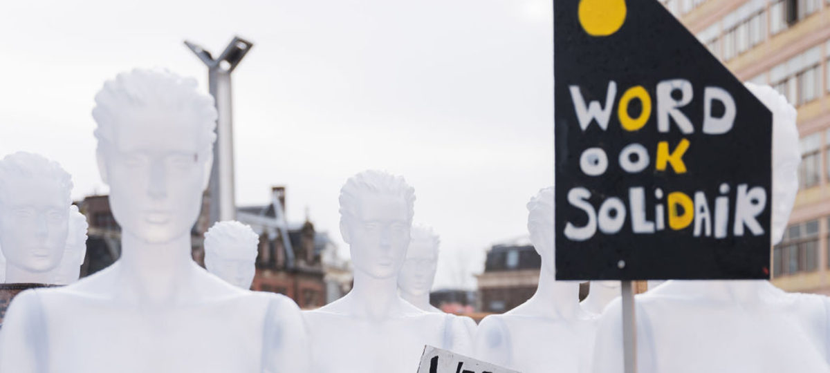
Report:
M773 112L772 232L781 240L798 191L796 112L768 86L747 84ZM640 373L827 372L822 297L788 294L766 280L670 280L637 295ZM622 372L620 301L603 314L595 372Z

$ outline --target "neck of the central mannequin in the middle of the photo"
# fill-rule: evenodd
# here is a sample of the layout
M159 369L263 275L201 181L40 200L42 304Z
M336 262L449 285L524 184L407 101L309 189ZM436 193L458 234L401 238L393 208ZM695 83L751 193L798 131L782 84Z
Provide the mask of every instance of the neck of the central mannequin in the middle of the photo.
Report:
M398 277L378 279L360 269L354 269L354 286L349 293L354 301L354 312L360 317L383 319L400 311Z

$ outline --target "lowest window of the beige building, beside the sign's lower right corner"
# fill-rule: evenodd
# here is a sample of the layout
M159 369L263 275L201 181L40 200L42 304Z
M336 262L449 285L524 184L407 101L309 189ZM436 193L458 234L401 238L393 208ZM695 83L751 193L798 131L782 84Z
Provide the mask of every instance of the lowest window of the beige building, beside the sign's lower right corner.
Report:
M773 249L773 274L797 274L818 269L818 220L790 225Z

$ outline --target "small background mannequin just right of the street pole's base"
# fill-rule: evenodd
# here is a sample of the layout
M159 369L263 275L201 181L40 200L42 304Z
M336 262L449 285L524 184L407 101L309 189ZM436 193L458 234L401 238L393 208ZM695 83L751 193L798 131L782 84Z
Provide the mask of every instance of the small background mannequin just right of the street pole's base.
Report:
M207 272L237 288L250 289L256 274L259 235L236 220L217 221L205 233Z

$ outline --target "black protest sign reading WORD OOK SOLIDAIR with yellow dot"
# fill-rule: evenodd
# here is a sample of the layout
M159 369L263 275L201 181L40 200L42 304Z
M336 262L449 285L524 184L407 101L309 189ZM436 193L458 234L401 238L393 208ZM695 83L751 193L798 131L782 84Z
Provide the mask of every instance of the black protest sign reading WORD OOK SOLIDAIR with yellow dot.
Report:
M554 1L556 279L769 279L772 114L656 0Z

